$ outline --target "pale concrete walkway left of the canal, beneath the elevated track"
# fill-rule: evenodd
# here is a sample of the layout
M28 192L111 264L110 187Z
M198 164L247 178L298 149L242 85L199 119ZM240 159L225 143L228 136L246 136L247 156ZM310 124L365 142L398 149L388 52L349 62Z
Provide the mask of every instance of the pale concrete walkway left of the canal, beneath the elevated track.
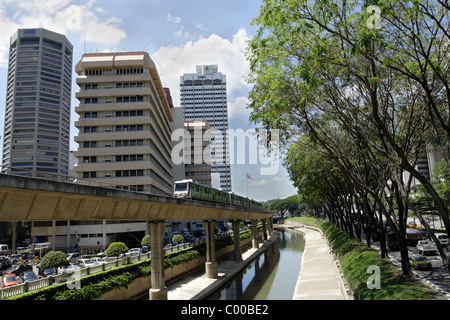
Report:
M219 261L217 265L218 278L210 279L206 277L204 271L167 286L168 300L201 300L219 289L223 284L232 279L237 273L246 268L262 252L264 252L278 238L275 231L264 243L259 243L259 248L251 248L242 253L242 261L225 260Z

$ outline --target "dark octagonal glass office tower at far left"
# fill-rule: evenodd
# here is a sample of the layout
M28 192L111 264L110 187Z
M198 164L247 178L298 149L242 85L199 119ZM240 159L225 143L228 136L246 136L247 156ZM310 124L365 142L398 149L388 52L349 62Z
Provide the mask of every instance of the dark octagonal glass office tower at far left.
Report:
M11 37L2 172L68 175L72 52L42 28Z

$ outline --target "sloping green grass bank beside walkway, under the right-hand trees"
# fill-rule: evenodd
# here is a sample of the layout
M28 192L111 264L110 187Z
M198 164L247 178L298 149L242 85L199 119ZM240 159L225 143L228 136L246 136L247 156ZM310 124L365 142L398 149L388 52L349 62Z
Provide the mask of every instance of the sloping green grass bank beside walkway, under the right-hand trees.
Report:
M367 248L331 222L311 217L289 218L291 221L319 226L339 259L342 271L358 300L435 300L433 292L418 281L401 275L378 251ZM377 274L379 277L377 278ZM377 284L379 279L379 286Z

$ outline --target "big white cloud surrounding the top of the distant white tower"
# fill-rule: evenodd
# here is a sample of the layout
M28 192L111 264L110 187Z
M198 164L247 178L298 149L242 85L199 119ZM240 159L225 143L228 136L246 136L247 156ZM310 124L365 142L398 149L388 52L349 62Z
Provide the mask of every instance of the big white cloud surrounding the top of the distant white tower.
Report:
M232 40L212 34L208 38L189 41L184 46L166 46L151 55L165 87L170 89L174 105L180 106L179 81L184 73L195 72L195 66L217 64L219 72L227 77L229 114L243 114L248 91L245 77L250 66L245 58L246 42L249 39L245 29L239 29Z

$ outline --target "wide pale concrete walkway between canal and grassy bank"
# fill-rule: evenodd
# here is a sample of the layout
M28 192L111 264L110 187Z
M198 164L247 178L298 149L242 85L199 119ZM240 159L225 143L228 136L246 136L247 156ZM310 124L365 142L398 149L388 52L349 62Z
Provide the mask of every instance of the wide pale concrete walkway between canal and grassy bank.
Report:
M352 300L319 228L289 225L305 235L305 249L293 300Z

